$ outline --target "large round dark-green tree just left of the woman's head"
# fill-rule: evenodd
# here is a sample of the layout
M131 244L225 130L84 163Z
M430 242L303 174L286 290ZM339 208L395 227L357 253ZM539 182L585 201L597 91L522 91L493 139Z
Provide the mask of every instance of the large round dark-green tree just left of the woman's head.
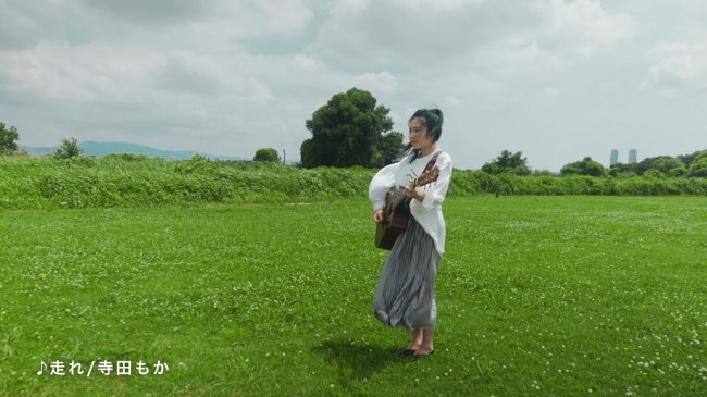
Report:
M302 165L370 166L376 152L376 161L389 159L397 136L382 134L393 128L390 109L375 103L371 92L351 88L320 107L305 123L312 137L300 147Z

